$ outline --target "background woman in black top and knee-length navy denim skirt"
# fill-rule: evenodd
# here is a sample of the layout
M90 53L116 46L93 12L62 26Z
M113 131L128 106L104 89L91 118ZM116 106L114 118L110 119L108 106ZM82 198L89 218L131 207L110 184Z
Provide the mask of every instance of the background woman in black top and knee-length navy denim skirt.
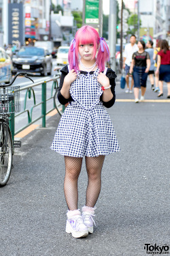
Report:
M133 53L130 74L134 79L134 95L135 103L139 102L139 88L141 88L141 101L143 101L146 93L146 81L150 70L150 55L145 49L145 42L139 40L137 43L139 51Z

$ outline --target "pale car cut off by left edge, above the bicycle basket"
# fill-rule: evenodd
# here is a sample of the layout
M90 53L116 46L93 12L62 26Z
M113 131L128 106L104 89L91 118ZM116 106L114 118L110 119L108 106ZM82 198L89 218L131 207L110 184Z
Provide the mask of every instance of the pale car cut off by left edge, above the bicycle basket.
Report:
M0 83L10 83L12 80L12 59L0 47Z

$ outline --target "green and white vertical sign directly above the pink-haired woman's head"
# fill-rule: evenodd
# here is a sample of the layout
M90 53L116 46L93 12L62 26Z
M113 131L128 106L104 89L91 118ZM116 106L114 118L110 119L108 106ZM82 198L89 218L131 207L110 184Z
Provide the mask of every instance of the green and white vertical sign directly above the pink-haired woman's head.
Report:
M102 36L103 0L83 1L83 22L84 25L95 27Z

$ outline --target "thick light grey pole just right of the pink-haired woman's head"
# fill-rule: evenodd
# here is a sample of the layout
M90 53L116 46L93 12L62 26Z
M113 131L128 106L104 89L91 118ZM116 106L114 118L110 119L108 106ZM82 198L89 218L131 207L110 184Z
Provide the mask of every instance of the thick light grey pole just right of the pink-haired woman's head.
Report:
M116 0L109 0L109 51L112 70L116 70L116 10Z

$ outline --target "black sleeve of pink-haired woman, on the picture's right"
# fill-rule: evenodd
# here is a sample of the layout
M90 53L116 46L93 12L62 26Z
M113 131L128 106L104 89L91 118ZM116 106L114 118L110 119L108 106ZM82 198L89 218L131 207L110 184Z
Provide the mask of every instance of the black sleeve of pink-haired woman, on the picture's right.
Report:
M106 108L110 108L111 106L114 105L114 102L116 100L116 95L115 95L115 86L116 86L116 83L115 83L115 79L116 79L116 74L115 72L111 69L111 68L107 68L107 72L106 72L106 76L108 77L109 79L109 84L111 85L111 91L112 91L112 94L113 94L113 98L112 100L109 100L107 102L104 102L103 101L103 94L101 94L101 102L103 102L103 106L105 106Z

